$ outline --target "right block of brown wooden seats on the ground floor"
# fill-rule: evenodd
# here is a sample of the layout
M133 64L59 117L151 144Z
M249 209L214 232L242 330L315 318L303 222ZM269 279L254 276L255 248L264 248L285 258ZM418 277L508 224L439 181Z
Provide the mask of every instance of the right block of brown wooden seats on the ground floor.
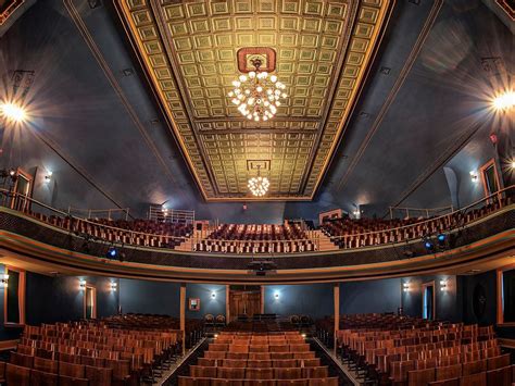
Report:
M360 314L342 316L340 327L342 361L382 385L508 386L515 381L493 326Z

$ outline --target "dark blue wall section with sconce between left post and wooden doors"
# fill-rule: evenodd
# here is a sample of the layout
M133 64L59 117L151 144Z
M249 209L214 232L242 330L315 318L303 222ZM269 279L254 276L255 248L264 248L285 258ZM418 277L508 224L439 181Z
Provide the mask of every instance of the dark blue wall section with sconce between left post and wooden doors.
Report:
M215 298L211 295L215 294ZM225 315L225 286L217 284L188 284L186 286L186 317L200 319L205 314ZM200 299L200 310L190 311L188 307L189 298Z

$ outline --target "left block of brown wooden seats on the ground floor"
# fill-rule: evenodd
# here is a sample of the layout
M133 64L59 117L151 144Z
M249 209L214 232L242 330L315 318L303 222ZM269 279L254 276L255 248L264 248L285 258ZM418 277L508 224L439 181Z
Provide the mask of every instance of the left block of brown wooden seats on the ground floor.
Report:
M139 385L169 369L180 351L176 319L125 315L26 326L9 363L7 385ZM3 372L2 372L3 371Z

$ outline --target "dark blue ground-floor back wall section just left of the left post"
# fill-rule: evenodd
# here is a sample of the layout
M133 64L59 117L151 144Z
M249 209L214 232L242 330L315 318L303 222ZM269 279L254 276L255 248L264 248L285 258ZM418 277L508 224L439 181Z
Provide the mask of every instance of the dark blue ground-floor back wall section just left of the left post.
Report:
M120 306L123 313L180 314L180 284L120 279Z

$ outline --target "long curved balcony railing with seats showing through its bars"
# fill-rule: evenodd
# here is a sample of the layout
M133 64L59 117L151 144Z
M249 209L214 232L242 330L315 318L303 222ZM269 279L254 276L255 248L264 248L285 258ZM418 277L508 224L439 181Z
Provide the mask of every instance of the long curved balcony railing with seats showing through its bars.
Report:
M406 244L434 237L440 233L457 232L513 202L515 186L474 202L465 208L440 216L426 219L414 224L349 235L327 235L340 249L377 247ZM304 231L305 238L281 240L223 239L210 238L210 234L197 232L190 224L173 228L180 235L167 235L160 232L145 233L130 228L106 225L97 221L81 219L66 211L58 210L29 197L8 190L0 190L0 204L18 211L29 217L41 221L61 232L68 233L87 241L98 241L113 246L151 247L175 249L186 252L215 252L228 254L289 254L327 253L321 249L316 231ZM164 223L156 223L164 225ZM168 224L169 225L169 224ZM212 248L199 248L199 246Z

